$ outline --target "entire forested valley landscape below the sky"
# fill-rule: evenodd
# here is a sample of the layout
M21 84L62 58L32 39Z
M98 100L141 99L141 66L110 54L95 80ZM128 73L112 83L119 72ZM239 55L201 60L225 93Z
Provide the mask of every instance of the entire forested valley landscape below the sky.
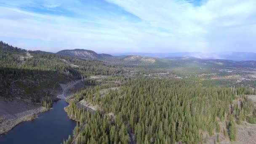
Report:
M256 61L48 53L3 42L0 58L0 142L44 121L64 133L43 134L42 144L61 136L64 144L255 141ZM59 114L62 126L48 124Z

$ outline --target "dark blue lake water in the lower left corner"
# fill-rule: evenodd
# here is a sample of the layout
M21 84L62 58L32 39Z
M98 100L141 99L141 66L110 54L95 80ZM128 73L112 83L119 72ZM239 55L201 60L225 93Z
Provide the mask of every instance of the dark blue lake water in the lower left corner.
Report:
M64 111L67 105L63 100L55 102L53 109L38 114L37 119L22 122L2 135L0 144L63 144L76 125Z

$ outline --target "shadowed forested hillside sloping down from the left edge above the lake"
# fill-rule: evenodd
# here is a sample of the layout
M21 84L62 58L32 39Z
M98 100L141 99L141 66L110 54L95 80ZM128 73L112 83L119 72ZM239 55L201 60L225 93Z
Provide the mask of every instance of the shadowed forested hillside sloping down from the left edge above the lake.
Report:
M58 83L88 75L120 75L124 69L99 60L27 51L0 42L0 96L32 99L50 96Z

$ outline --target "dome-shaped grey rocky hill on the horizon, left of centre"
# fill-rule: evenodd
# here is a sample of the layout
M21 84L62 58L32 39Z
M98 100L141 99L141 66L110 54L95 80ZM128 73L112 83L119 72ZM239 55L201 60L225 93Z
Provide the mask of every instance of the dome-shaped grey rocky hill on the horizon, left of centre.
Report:
M74 49L74 50L62 50L57 54L63 54L67 56L77 56L86 59L103 59L104 57L111 57L110 54L98 54L95 51L84 50L84 49Z

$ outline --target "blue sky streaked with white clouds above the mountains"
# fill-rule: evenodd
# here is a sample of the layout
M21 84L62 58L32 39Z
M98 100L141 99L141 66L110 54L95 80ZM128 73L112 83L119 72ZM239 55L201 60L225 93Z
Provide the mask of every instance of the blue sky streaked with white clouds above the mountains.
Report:
M0 0L0 40L29 50L256 52L256 0Z

